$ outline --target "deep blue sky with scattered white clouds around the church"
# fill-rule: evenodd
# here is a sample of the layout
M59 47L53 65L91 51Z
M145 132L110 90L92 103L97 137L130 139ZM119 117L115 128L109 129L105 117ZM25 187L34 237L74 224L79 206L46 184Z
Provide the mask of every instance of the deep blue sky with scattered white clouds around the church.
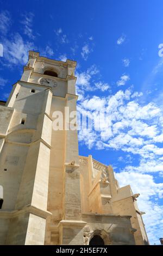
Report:
M163 2L0 1L0 95L20 79L28 51L78 62L78 109L109 109L110 129L79 132L79 154L111 164L140 193L151 244L163 236Z

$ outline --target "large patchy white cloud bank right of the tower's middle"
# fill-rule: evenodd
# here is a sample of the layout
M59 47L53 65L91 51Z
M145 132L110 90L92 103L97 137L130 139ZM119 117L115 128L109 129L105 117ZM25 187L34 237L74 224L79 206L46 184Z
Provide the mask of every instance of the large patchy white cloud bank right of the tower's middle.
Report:
M90 76L86 80L85 76L79 78L80 84L90 87ZM108 97L93 96L91 100L84 99L82 95L80 107L91 111L92 116L94 111L107 113L104 122L108 126L97 132L98 139L94 143L97 148L100 145L101 148L121 149L144 159L159 157L163 150L155 142L162 139L159 130L162 123L158 121L161 110L152 102L140 106L139 103L130 101L132 95L131 89L124 92L119 90Z

